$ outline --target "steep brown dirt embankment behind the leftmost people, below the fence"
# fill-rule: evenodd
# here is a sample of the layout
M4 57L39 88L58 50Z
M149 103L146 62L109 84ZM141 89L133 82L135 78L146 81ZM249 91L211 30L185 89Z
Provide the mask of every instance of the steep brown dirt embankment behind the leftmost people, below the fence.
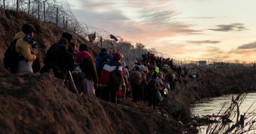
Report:
M77 45L81 43L87 43L89 47L89 53L92 56L97 56L100 49L95 45L92 45L89 41L82 38L80 35L70 32L64 28L59 28L54 23L42 22L34 16L30 16L25 12L16 12L14 10L3 10L0 8L0 74L6 72L3 65L4 52L13 40L14 35L20 32L22 25L25 23L32 24L36 29L34 38L38 41L37 57L41 61L44 60L44 56L48 48L55 42L58 42L63 32L69 32L73 35L72 42Z

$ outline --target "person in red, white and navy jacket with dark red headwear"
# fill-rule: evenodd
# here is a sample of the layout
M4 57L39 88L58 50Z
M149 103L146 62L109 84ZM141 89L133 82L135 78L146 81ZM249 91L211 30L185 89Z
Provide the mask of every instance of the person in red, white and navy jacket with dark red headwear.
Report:
M116 94L120 95L124 79L122 77L122 65L119 62L122 55L116 52L113 60L108 61L101 72L99 88L101 91L101 99L116 103Z

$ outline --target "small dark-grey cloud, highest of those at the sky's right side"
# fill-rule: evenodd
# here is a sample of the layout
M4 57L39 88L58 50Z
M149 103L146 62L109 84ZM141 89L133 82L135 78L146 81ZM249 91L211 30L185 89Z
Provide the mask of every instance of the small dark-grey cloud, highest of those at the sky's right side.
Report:
M208 29L212 31L222 31L222 32L229 32L229 31L244 31L247 30L244 24L241 23L232 23L230 25L217 25L215 29Z

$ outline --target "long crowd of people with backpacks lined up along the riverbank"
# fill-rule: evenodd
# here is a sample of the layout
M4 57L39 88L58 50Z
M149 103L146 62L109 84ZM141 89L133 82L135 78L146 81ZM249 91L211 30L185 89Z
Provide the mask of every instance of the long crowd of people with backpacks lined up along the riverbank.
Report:
M88 53L88 45L82 43L78 48L68 32L62 33L60 40L51 45L41 68L38 62L34 62L37 59L34 51L37 42L33 36L34 27L30 24L24 24L22 32L14 36L18 56L15 69L10 67L12 73L35 73L39 70L45 73L52 69L54 76L67 83L69 89L73 82L80 95L96 95L114 103L122 103L132 96L133 102L145 102L155 109L176 83L188 83L186 67L176 67L173 59L155 57L154 53L148 52L142 54L130 68L121 60L120 52L106 48L102 48L94 59Z

